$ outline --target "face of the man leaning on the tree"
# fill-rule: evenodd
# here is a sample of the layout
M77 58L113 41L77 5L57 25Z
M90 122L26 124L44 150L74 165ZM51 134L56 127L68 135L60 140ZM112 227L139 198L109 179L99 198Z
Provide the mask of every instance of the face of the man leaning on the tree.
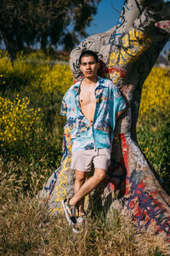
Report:
M94 56L82 56L80 69L87 79L94 79L97 77L99 62L96 62Z

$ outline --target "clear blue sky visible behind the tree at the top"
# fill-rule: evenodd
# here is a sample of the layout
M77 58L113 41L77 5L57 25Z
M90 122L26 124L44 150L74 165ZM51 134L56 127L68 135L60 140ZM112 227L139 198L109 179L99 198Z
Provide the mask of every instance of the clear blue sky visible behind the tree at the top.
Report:
M88 35L94 35L101 32L106 32L111 29L112 26L116 26L117 20L119 19L119 13L113 9L116 8L122 11L123 0L101 0L98 6L98 12L94 15L94 20L91 22L90 26L86 29ZM166 1L165 1L166 2ZM163 51L170 48L170 42L167 42Z

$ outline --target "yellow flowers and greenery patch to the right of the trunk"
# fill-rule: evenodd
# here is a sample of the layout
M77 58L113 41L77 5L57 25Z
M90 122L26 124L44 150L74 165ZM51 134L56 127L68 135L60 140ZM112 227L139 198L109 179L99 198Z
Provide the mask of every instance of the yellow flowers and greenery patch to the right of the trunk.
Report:
M137 136L147 159L170 183L170 76L166 68L153 67L144 82Z

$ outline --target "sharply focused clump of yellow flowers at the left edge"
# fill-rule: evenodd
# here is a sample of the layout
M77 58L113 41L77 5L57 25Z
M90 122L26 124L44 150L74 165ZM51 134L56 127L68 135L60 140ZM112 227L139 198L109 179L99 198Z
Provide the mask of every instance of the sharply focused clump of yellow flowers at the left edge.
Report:
M0 140L3 143L14 143L23 140L31 127L37 123L39 117L37 110L29 108L30 100L16 96L14 102L8 98L0 97ZM40 111L40 108L38 108Z

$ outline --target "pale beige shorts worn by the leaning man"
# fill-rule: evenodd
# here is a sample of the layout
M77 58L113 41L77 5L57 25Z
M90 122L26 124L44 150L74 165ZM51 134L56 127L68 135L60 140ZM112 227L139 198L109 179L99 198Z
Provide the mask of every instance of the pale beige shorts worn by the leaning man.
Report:
M99 148L72 152L71 169L81 172L90 172L94 168L107 170L111 164L111 149Z

